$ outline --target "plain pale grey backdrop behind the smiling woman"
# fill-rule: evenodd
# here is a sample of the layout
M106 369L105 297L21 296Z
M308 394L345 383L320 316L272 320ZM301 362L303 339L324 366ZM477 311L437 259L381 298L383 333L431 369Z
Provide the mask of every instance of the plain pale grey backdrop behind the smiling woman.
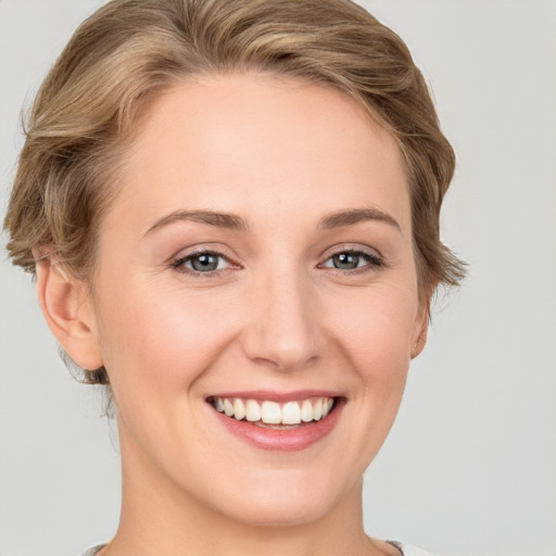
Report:
M0 0L0 213L18 117L100 0ZM450 556L556 555L556 2L368 0L430 83L458 169L444 240L469 263L435 305L365 523ZM115 532L101 401L61 363L27 275L0 258L0 555L75 556Z

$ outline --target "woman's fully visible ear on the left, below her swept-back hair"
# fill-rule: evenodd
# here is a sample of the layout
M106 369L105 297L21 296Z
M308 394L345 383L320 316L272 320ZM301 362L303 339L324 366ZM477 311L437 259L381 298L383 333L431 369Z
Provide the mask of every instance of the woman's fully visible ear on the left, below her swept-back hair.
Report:
M87 283L51 257L37 263L37 294L47 324L70 357L84 369L103 365Z

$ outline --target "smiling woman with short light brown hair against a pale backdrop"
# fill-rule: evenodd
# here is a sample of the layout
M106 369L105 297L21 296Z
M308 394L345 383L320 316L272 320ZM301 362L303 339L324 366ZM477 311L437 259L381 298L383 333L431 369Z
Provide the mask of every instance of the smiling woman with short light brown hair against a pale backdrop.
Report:
M363 472L462 264L454 169L401 39L345 0L110 2L30 116L5 226L115 407L123 505L88 554L421 554Z

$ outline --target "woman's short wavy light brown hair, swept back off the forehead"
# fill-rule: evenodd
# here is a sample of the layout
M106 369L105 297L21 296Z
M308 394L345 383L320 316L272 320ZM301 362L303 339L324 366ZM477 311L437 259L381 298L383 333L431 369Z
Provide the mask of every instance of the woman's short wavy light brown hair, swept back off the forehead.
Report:
M405 43L350 0L113 0L98 10L28 118L4 223L14 264L34 273L48 247L87 277L139 111L188 76L249 71L334 87L367 108L405 157L419 293L456 286L463 264L439 230L454 151Z

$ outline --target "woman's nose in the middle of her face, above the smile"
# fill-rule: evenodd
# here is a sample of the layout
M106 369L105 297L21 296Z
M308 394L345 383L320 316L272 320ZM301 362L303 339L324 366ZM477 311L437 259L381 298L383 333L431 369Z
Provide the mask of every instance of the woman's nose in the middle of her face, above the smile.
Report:
M314 287L301 276L262 279L248 300L245 355L278 370L296 370L318 359L324 350Z

